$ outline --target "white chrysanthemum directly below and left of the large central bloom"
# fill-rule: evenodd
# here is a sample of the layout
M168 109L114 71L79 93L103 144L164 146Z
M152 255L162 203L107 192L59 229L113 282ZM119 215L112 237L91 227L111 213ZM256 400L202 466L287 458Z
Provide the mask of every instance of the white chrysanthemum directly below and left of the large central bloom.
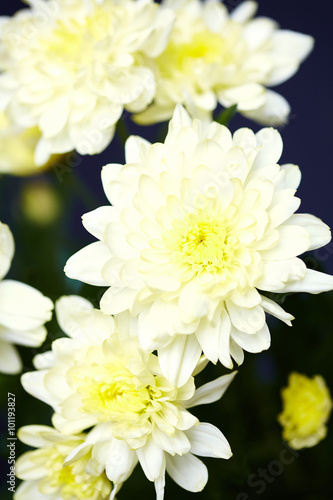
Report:
M39 370L22 376L24 388L54 408L54 426L73 434L95 426L77 453L94 447L96 473L106 469L113 495L138 461L158 499L165 470L185 489L202 490L207 469L193 454L229 458L231 450L216 427L199 423L187 408L219 399L234 373L198 390L190 376L176 388L158 358L140 349L137 319L127 311L112 318L76 296L61 298L56 310L71 338L54 341L52 351L35 358ZM197 371L205 364L200 361ZM73 452L66 463L76 457Z

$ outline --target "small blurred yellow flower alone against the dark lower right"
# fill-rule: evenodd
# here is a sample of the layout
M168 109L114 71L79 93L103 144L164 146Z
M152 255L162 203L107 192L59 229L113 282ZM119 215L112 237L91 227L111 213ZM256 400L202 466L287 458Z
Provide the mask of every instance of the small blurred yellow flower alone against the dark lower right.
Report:
M289 446L311 447L324 439L332 399L323 377L291 373L288 386L282 389L282 402L283 411L278 420Z

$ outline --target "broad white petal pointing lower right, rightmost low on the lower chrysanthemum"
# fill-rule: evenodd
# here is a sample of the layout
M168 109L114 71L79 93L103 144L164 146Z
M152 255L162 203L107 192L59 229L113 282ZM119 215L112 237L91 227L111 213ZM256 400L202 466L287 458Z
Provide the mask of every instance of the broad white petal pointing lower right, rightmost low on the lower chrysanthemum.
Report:
M212 424L200 423L186 431L191 443L191 453L200 457L228 459L232 456L231 448L222 432Z

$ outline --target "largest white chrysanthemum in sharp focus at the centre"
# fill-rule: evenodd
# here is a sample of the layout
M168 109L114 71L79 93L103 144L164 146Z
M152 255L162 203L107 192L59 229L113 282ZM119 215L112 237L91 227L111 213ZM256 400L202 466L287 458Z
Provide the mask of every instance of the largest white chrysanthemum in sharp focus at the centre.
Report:
M265 312L293 319L260 292L319 293L333 277L308 270L297 255L321 247L329 228L297 214L295 165L277 164L280 134L217 123L204 126L177 107L164 144L126 143L126 165L102 172L113 205L83 217L100 241L67 262L71 278L112 285L106 314L139 315L146 350L159 350L166 378L182 383L200 357L232 367L243 349L270 345ZM183 359L188 373L177 373ZM192 363L192 367L191 367Z

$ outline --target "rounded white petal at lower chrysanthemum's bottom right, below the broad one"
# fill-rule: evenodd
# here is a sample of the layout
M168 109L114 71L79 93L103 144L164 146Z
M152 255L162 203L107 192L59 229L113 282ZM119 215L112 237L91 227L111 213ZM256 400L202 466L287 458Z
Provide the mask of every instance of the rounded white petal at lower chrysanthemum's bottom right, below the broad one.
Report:
M166 455L166 470L181 488L194 493L202 491L208 481L207 467L191 453Z

